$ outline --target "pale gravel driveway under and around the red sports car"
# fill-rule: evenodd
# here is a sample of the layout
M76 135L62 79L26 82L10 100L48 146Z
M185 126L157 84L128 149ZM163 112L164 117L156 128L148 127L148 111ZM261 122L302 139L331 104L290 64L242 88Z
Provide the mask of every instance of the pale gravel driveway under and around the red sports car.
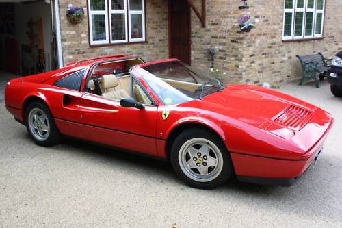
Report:
M38 147L0 103L0 227L342 227L342 99L326 82L281 90L335 118L319 163L290 188L197 190L163 162L75 140Z

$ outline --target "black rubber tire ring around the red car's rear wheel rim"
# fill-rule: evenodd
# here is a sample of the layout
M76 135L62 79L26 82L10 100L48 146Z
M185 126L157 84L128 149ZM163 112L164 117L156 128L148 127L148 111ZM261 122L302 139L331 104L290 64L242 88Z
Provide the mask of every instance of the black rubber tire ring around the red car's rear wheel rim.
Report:
M37 131L34 131L34 129L31 129L30 127L29 114L30 112L34 112L34 110L40 110L46 115L45 120L46 120L47 125L49 125L49 134L46 138L38 139L39 136L35 136L35 134L37 135ZM31 136L32 140L36 142L36 144L42 147L51 147L57 144L58 142L60 142L61 134L55 125L55 121L53 120L53 116L49 110L49 107L47 107L47 105L45 105L44 103L41 103L39 101L34 101L27 106L25 110L25 123L26 123L27 131L29 132L29 135Z

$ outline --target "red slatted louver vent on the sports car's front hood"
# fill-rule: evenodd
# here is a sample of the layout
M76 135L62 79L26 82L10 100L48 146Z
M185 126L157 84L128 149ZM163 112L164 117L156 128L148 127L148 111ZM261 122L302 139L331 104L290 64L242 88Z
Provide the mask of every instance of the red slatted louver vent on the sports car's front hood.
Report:
M310 111L304 110L302 107L290 105L276 116L274 121L295 130L300 130L311 120L311 116L312 114Z

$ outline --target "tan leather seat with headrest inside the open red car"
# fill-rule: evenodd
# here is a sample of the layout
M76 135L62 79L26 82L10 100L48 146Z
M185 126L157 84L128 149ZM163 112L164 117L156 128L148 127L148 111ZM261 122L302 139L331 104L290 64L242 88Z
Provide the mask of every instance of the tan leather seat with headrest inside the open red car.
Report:
M130 97L125 90L116 90L118 85L118 79L116 79L115 75L103 75L101 77L101 88L103 89L102 96L112 100Z

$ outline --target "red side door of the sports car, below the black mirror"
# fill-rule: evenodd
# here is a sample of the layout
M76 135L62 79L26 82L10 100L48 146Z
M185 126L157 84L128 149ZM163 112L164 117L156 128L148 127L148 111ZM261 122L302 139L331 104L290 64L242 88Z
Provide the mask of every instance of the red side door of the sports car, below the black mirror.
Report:
M120 101L84 92L73 98L84 139L112 147L157 155L157 106L122 107Z

